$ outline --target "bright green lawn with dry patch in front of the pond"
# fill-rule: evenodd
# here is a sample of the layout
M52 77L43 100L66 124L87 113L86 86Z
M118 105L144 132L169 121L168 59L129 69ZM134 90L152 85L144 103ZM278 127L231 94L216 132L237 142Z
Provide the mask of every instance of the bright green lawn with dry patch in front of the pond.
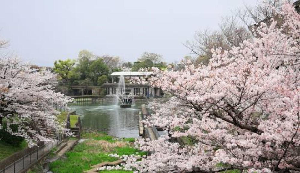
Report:
M141 155L145 152L131 147L128 140L132 139L115 139L104 133L83 133L82 138L89 138L88 140L77 144L72 151L65 154L67 158L56 160L50 164L50 170L55 173L81 173L82 170L92 169L92 165L108 161L112 162L118 160L116 157L110 157L108 154L117 153L118 155L130 155L139 152ZM132 171L112 170L101 172L118 172L129 173Z

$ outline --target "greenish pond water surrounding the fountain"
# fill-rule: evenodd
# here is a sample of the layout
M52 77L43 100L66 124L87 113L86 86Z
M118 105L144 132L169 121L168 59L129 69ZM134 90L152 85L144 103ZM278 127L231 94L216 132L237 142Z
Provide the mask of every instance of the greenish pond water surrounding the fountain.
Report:
M117 137L139 137L139 111L136 102L131 108L120 108L115 103L77 102L69 105L80 116L82 128L104 131Z

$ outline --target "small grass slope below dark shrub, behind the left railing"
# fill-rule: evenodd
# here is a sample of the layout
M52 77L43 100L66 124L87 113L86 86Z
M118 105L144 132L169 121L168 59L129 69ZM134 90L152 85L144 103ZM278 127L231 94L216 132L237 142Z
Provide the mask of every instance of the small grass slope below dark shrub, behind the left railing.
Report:
M27 143L25 140L22 141L22 143L18 147L14 147L10 144L7 144L5 142L2 142L0 140L0 160L12 155L13 153L20 151L27 147Z

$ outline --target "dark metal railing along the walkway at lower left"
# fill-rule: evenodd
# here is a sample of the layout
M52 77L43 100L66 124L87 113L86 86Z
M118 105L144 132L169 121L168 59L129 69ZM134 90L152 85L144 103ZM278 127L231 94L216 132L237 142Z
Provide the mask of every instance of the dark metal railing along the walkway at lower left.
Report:
M59 135L55 142L48 142L43 146L36 147L36 149L29 154L24 155L19 160L6 166L4 169L0 170L0 173L18 173L29 169L33 164L37 163L41 158L45 157L49 151L60 144L63 136Z

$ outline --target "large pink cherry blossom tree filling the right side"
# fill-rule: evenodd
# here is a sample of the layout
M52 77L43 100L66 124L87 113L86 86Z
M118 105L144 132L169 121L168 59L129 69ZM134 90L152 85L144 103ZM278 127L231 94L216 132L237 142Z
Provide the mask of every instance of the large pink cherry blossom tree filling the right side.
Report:
M126 166L140 172L300 171L300 15L288 2L273 12L276 19L261 22L254 38L212 50L208 65L152 68L156 76L140 82L172 97L152 104L146 124L170 136L138 141L152 154ZM168 141L175 137L193 142Z

